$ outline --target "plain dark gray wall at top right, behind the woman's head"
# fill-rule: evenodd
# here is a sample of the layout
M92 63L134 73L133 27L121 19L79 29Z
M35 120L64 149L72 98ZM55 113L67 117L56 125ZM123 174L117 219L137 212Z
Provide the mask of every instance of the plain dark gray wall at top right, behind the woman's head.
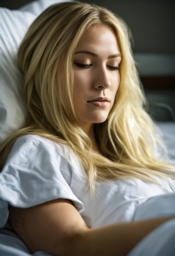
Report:
M134 52L174 53L173 0L85 0L109 8L131 29Z

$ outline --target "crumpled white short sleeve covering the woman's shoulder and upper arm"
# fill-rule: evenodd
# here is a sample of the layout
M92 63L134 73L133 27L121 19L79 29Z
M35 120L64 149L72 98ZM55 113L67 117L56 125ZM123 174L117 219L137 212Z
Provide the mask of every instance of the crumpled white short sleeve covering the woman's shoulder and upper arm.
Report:
M63 165L67 168L66 161L50 140L38 135L19 138L0 173L0 198L20 208L64 198L71 200L76 209L82 212L83 203L74 195L60 170L63 170ZM71 168L69 170L71 172Z

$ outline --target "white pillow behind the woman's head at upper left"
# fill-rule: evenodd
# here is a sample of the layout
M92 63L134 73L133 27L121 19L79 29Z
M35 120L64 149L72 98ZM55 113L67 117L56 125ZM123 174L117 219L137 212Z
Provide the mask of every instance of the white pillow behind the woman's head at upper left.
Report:
M0 143L24 125L27 108L21 96L22 75L16 66L18 47L36 17L52 4L71 0L39 0L20 10L0 8Z

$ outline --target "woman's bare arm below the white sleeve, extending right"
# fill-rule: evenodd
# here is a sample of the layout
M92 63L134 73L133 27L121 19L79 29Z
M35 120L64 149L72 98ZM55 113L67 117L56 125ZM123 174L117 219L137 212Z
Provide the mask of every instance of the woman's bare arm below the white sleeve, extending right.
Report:
M170 219L156 218L89 228L71 201L57 199L27 209L10 206L9 221L33 253L126 255L149 232Z

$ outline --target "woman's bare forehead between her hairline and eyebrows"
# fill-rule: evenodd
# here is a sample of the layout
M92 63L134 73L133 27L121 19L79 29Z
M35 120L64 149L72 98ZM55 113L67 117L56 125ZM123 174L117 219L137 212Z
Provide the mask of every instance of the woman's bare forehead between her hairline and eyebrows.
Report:
M106 52L109 55L120 53L116 33L103 24L92 25L85 31L76 47L76 51L81 50Z

